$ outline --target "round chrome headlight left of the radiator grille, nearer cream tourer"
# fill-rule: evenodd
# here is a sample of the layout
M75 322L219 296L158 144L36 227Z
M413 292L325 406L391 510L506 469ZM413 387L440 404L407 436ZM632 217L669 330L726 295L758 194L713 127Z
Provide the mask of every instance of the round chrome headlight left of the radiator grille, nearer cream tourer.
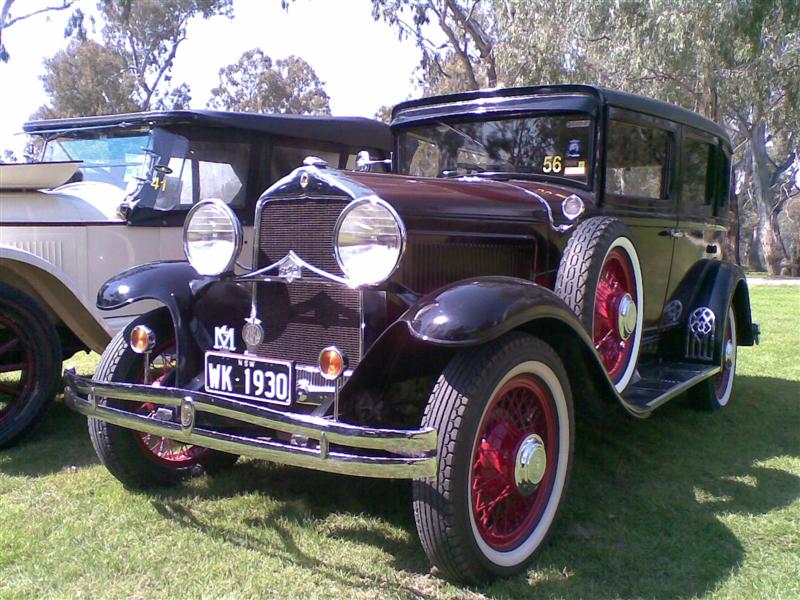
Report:
M221 200L202 200L186 215L183 249L200 275L230 271L241 247L242 226Z

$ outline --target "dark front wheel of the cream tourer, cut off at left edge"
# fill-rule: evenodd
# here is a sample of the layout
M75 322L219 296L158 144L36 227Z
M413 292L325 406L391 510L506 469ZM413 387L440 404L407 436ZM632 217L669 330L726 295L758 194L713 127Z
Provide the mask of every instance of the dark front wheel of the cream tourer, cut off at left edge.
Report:
M61 343L36 300L0 284L0 448L31 432L61 379Z

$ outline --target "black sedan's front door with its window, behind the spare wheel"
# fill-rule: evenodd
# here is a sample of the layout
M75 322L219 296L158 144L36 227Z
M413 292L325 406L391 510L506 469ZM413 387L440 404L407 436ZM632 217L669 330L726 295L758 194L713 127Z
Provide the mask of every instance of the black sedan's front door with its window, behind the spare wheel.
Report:
M610 108L606 125L604 214L621 218L634 237L644 288L645 330L657 328L667 293L677 226L674 156L678 126Z

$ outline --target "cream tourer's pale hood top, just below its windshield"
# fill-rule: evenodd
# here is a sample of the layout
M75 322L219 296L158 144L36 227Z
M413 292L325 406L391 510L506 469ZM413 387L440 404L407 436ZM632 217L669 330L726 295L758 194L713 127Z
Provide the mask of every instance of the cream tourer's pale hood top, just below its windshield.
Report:
M68 183L52 190L0 191L0 223L91 224L122 222L124 190L108 183Z

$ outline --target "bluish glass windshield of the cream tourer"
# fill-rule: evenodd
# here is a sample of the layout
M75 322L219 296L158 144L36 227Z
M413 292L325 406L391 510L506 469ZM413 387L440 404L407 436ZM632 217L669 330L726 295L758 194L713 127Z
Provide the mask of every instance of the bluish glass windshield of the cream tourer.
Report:
M132 191L149 170L149 131L76 131L47 140L46 162L81 160L73 181L99 181Z

